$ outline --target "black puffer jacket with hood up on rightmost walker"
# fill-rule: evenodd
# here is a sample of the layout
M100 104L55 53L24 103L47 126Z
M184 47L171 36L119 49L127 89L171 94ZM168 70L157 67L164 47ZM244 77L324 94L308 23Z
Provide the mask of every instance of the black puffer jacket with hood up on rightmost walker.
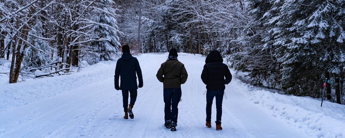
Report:
M223 63L223 58L219 51L211 51L207 55L205 62L201 79L206 84L206 89L225 90L225 84L230 83L232 75L228 66Z

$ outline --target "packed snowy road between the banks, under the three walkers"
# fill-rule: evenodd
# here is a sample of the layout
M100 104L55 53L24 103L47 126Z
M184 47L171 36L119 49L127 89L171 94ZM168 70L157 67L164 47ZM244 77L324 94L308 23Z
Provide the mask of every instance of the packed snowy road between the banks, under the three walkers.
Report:
M226 86L227 99L223 100L223 130L215 130L215 99L213 127L207 128L203 95L206 88L200 79L205 58L185 53L178 58L185 64L188 80L182 85L177 131L171 132L163 125L163 85L156 79L156 72L166 58L167 53L138 57L144 87L138 89L134 119L122 118L121 92L114 89L114 72L106 71L109 77L101 81L0 112L0 137L311 137L259 108L233 82ZM109 68L114 68L114 64Z

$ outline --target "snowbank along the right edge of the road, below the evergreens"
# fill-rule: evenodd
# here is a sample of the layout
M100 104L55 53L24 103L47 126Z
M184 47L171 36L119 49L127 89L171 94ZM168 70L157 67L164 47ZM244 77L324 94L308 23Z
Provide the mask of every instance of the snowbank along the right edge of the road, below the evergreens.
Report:
M272 116L282 119L287 124L304 131L311 137L345 138L345 106L311 97L296 97L269 92L233 80L234 85L246 93L254 104L269 110Z

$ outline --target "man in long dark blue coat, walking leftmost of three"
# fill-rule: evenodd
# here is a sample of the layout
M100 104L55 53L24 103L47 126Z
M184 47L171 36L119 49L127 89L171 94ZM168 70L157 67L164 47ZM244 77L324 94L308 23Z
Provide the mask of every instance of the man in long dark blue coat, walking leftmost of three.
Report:
M137 89L143 86L142 73L137 58L130 54L129 46L122 47L122 56L117 60L115 69L115 89L122 90L122 101L125 111L125 119L128 119L128 114L131 119L134 118L132 108L137 99ZM137 85L137 75L139 85ZM121 77L121 84L119 86L119 77ZM130 102L128 105L128 92L130 93Z

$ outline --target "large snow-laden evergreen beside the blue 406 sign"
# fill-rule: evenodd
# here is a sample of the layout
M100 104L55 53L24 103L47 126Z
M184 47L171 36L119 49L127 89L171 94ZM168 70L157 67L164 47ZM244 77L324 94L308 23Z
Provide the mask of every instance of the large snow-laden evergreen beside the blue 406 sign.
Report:
M289 94L317 97L325 72L338 76L344 69L344 2L284 1L270 19L281 34L283 88Z

